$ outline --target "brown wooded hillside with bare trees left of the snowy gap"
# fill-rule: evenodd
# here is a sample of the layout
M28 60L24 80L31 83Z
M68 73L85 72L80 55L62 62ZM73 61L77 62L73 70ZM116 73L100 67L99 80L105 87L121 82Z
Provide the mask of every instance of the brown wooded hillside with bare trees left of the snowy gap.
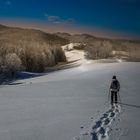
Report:
M18 66L43 72L47 66L66 61L60 46L67 43L64 38L39 30L0 25L0 72L14 71Z

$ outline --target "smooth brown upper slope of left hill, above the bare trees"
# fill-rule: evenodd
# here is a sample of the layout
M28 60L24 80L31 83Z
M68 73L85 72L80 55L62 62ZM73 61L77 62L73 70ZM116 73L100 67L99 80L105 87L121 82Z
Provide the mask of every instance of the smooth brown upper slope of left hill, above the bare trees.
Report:
M34 29L22 29L22 28L13 28L0 25L0 40L6 39L8 41L38 41L45 42L48 44L66 44L68 41L62 37L59 37L54 34L49 34L42 32L40 30ZM11 42L12 43L12 42Z

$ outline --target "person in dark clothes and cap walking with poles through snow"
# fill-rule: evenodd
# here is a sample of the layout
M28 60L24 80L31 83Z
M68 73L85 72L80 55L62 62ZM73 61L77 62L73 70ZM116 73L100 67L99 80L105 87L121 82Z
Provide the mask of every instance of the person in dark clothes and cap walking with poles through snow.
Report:
M117 104L118 103L118 92L120 90L120 83L117 80L116 76L114 75L112 77L112 82L110 85L110 92L111 92L111 105L113 103Z

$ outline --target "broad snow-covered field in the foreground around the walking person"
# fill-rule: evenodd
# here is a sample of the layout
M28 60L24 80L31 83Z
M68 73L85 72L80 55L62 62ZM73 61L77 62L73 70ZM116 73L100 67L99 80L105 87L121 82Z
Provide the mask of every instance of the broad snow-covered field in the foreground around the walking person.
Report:
M111 109L114 74L122 104ZM139 140L139 131L140 63L85 64L0 88L0 140Z

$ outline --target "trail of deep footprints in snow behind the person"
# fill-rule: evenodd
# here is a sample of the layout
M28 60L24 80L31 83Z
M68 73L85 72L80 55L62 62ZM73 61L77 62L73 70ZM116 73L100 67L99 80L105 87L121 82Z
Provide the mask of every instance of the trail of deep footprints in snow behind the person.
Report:
M93 122L90 128L82 128L79 137L74 137L74 140L107 140L111 131L111 123L121 112L120 105L114 105L106 111L98 121Z

